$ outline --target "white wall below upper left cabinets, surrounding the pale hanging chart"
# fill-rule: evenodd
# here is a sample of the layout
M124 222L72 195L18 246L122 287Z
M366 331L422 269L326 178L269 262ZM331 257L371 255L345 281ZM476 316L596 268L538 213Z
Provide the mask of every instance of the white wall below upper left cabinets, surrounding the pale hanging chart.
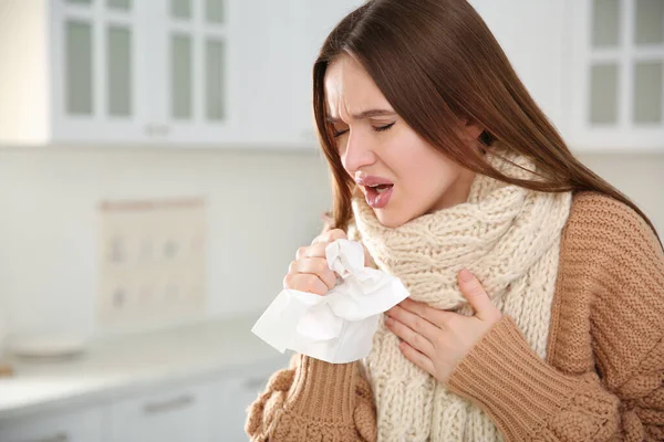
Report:
M208 203L210 316L263 308L331 202L317 152L0 150L11 330L95 333L97 203L183 196Z

